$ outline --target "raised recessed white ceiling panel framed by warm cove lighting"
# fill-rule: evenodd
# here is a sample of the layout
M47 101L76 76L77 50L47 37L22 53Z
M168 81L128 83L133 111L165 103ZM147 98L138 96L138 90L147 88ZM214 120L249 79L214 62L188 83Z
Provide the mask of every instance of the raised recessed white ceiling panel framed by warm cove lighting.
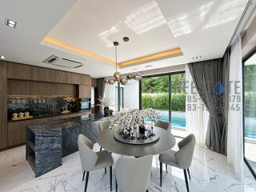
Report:
M157 2L149 0L78 1L49 36L113 61L118 41L118 62L178 47Z

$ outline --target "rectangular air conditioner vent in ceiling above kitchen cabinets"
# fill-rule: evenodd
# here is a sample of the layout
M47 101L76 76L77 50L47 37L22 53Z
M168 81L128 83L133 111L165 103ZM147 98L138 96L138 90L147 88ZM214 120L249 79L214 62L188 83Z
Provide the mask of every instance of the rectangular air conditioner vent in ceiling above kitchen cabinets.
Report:
M51 55L50 58L46 58L46 60L44 60L43 62L54 65L54 66L61 66L61 67L71 68L71 69L82 66L81 62L75 62L66 58L59 58L54 54Z

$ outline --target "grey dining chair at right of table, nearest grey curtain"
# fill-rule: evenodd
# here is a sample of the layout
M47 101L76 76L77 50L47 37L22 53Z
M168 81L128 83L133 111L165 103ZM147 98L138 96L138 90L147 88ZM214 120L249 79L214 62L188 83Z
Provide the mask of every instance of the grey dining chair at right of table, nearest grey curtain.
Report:
M175 166L183 170L186 190L187 192L190 191L186 171L190 177L190 166L194 154L195 142L194 134L190 134L186 138L183 138L182 141L178 142L178 151L168 150L166 153L159 154L160 186L162 186L162 163L165 163L169 166Z

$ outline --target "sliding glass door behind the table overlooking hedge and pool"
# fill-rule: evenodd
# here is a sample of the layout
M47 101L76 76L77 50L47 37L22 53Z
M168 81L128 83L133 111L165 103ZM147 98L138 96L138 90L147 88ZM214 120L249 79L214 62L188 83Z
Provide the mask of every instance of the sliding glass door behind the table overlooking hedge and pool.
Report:
M143 77L141 82L141 108L158 111L161 120L171 122L172 128L186 128L185 73ZM175 132L176 133L176 132Z

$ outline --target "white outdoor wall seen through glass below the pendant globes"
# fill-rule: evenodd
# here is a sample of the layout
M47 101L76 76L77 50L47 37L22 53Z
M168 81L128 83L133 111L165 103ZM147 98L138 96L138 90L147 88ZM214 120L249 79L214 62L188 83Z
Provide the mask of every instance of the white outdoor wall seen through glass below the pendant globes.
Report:
M126 86L123 86L123 105L124 108L138 109L139 107L139 83L128 82Z

